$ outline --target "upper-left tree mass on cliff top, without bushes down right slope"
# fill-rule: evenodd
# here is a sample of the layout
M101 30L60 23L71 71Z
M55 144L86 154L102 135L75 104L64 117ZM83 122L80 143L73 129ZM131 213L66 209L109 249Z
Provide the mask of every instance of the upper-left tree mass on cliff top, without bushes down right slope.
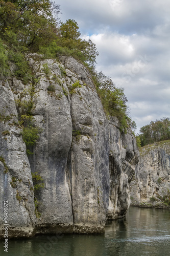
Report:
M9 60L19 66L23 61L17 60L16 53L23 59L22 53L31 51L52 58L70 55L94 68L98 56L95 44L80 38L75 20L59 23L59 13L60 6L50 0L0 0L0 37L11 51ZM5 59L4 49L2 52L0 59Z

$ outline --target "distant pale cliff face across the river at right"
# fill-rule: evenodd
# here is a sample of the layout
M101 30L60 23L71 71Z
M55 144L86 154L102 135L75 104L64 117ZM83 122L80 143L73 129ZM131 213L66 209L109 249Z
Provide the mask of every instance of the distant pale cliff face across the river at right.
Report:
M157 142L140 150L130 189L132 205L169 207L170 141Z

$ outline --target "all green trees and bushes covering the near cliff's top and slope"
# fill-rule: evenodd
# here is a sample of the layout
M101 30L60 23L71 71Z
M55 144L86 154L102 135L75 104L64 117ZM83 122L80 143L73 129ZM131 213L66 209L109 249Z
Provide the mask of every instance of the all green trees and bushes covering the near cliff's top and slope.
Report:
M105 112L116 116L122 127L131 126L128 117L127 98L123 88L117 88L110 77L95 71L96 56L99 55L91 40L81 39L78 23L68 19L59 22L60 6L50 0L0 0L0 62L1 75L10 73L27 83L34 74L25 55L38 53L41 58L73 56L91 71L96 89ZM9 66L13 63L13 71ZM49 69L44 65L49 76ZM63 73L64 74L64 73ZM59 99L60 97L58 97Z

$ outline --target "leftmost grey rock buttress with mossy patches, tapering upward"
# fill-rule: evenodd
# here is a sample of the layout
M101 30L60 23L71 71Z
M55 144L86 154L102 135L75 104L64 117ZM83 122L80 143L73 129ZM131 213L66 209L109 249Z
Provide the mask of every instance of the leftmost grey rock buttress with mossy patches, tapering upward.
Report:
M30 237L35 227L34 195L30 164L23 143L13 93L0 82L0 237L4 237L4 201L8 201L9 237ZM7 135L5 135L7 133ZM11 184L12 183L12 184Z

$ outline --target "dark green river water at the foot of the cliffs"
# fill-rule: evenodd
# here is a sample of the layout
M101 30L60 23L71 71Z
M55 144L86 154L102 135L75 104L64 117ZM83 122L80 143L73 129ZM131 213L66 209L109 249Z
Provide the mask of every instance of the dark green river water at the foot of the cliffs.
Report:
M1 241L2 245L2 241ZM124 219L106 223L105 234L57 234L10 240L8 256L170 255L170 210L130 207Z

